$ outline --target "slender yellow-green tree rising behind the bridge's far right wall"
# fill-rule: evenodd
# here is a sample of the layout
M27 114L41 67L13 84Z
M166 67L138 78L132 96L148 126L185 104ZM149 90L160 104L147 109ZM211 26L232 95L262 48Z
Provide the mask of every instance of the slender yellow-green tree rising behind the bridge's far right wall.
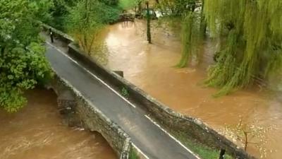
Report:
M119 10L111 8L98 0L80 0L69 9L66 28L71 33L80 47L92 54L93 49L101 48L99 33L104 24L118 19Z

